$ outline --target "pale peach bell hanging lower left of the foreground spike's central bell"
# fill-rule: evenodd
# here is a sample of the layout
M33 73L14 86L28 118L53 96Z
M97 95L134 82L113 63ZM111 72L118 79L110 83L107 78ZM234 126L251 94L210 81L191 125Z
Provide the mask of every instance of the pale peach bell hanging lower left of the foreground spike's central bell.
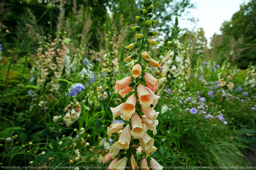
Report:
M130 128L130 124L127 124L125 128L122 130L116 144L119 149L128 149L130 142L131 142L131 128Z

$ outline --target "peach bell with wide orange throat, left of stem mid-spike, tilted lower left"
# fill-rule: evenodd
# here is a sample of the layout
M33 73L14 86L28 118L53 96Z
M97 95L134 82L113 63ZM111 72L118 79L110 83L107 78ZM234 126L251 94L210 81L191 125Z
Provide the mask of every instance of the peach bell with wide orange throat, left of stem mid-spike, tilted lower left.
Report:
M120 108L121 118L125 121L129 121L132 117L132 115L135 112L135 106L136 106L136 96L135 93L132 93L131 96L127 98L127 100L123 103L123 105Z

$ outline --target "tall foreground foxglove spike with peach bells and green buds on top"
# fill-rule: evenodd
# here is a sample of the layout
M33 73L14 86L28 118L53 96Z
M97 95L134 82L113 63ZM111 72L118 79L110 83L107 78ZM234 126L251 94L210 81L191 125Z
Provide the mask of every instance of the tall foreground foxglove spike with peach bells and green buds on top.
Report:
M157 148L154 146L155 139L147 133L148 130L151 130L156 135L156 126L158 125L156 118L159 114L154 110L160 98L155 94L158 80L145 70L147 63L153 67L160 67L160 64L146 51L148 45L158 44L152 39L157 32L147 30L156 24L157 20L150 20L153 17L154 9L152 1L143 0L142 4L143 9L139 9L139 12L143 17L136 17L140 26L131 27L133 31L138 32L136 34L138 42L133 42L125 47L130 50L138 48L139 53L132 53L124 59L126 62L134 61L134 66L131 74L116 81L115 86L116 93L119 91L121 97L124 98L127 94L129 97L124 103L110 107L113 120L115 121L116 117L120 116L124 123L112 123L108 128L108 136L113 139L113 142L116 141L109 147L109 153L114 160L108 169L124 170L128 165L131 165L132 169L137 169L140 162L141 166L147 166L150 163L157 169L163 169L155 159L151 158ZM182 63L177 59L178 62ZM140 152L140 154L136 156L136 152ZM106 161L110 161L109 156L110 154L106 157Z

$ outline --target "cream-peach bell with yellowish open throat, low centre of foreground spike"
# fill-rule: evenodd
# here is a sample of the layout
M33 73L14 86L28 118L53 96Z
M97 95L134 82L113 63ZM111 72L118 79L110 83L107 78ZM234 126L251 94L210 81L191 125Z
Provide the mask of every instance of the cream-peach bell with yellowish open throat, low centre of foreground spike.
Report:
M142 136L145 135L145 133L147 132L148 128L147 126L142 123L140 116L137 114L137 112L135 112L132 115L132 130L131 130L131 134L133 136L134 139L139 139Z

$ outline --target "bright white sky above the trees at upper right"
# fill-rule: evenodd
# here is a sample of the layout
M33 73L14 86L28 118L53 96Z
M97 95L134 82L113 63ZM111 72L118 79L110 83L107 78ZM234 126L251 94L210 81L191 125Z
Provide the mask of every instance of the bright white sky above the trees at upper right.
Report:
M208 39L216 32L220 34L220 27L224 20L230 20L232 15L239 11L240 4L247 4L249 0L191 0L196 5L195 9L190 9L188 15L184 18L198 18L195 24L179 19L180 28L189 28L189 30L203 27L205 37Z

